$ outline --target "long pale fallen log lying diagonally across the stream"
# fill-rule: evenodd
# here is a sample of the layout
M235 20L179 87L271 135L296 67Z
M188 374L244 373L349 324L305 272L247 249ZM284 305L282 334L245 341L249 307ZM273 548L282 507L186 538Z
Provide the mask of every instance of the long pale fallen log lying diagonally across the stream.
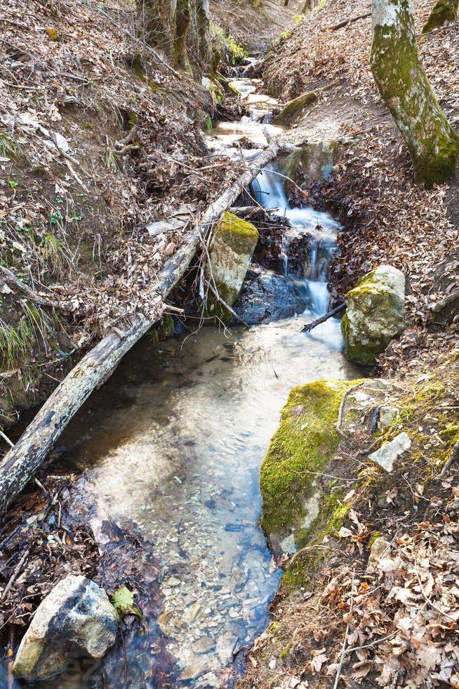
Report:
M201 241L211 232L215 221L258 175L260 167L267 165L276 155L277 143L273 142L255 159L256 167L248 165L233 186L208 207L201 221L190 231L186 243L166 262L159 273L157 283L149 290L152 305L156 307L155 315L138 316L126 332L110 333L103 337L60 382L51 397L48 397L27 430L0 464L1 515L44 463L53 442L88 399L93 389L102 385L112 375L124 354L159 321L167 309L164 300L180 281Z

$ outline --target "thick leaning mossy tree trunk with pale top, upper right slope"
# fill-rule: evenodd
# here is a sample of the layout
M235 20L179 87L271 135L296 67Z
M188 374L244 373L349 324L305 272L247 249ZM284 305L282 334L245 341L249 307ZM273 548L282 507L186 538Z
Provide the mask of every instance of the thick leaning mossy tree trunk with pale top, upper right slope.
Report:
M434 96L418 55L410 0L373 0L371 70L411 154L416 181L455 174L459 137Z

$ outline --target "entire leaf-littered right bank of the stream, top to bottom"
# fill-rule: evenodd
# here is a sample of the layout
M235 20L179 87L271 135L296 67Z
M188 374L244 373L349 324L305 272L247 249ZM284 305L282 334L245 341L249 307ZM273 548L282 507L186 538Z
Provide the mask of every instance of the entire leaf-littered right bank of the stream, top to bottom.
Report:
M432 3L413 8L419 35ZM319 6L270 53L263 77L284 102L339 80L286 139L338 143L330 179L304 193L344 226L331 269L335 301L378 264L407 277L408 327L378 373L395 385L399 409L388 437L405 431L414 442L387 475L367 459L383 438L364 423L342 440L321 479L330 491L336 477L340 517L323 541L284 563L272 624L248 652L241 688L459 686L457 302L447 306L459 288L458 183L415 184L371 76L369 11L363 0ZM353 21L336 28L345 20ZM457 128L458 23L423 37L420 55Z

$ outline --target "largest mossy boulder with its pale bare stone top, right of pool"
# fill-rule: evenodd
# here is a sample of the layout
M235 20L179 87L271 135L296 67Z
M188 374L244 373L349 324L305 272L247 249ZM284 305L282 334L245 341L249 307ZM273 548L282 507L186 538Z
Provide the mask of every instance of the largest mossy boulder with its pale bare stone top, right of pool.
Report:
M339 465L327 463L343 437L371 437L375 412L392 394L391 383L379 378L318 380L291 390L260 470L262 527L276 555L304 546L312 555L313 543L318 555L324 539L338 534L352 485L334 478L345 475L342 456Z

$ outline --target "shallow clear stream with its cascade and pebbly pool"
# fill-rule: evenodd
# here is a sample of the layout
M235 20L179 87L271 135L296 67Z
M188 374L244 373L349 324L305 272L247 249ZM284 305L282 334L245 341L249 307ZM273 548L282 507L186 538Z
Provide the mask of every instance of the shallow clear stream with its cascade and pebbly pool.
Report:
M239 155L242 136L265 142L260 120L272 107L271 99L255 103L257 82L238 83L254 103L251 116L216 124L208 136L211 150L230 156ZM133 687L230 683L225 669L266 628L281 578L258 524L258 472L281 408L295 385L357 373L342 355L339 321L301 333L326 312L326 267L340 226L326 213L291 208L274 172L261 172L253 188L258 202L288 217L292 238L314 235L304 278L310 309L249 330L205 327L159 345L145 337L60 440L70 466L84 469L76 491L93 522L109 518L139 532L151 548L145 566L159 563L154 605L144 601L143 624L126 638ZM284 255L288 275L288 242ZM46 686L121 686L122 665L118 645L90 671L79 667ZM154 667L167 665L173 680L161 683Z

